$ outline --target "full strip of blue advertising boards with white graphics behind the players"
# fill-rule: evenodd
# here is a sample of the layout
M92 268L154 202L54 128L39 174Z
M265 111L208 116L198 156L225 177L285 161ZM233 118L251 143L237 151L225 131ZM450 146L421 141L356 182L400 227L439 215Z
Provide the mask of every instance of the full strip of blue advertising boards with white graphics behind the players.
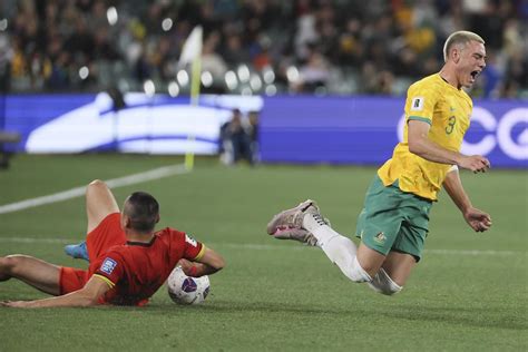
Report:
M115 111L107 94L8 95L3 129L18 131L22 153L216 154L219 127L232 109L260 113L265 163L380 165L402 138L401 97L125 95ZM465 154L486 155L495 167L528 166L528 102L475 100ZM1 128L1 126L0 126Z

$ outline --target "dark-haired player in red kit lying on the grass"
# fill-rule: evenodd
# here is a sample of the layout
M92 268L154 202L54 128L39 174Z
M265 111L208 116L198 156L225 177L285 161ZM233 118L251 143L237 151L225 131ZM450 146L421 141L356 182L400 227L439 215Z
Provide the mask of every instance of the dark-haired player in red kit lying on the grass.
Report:
M159 205L133 193L119 213L101 180L86 190L88 270L57 266L27 255L0 257L0 281L16 277L55 297L0 302L3 306L144 305L176 265L188 276L216 273L223 257L188 234L166 227L154 232Z

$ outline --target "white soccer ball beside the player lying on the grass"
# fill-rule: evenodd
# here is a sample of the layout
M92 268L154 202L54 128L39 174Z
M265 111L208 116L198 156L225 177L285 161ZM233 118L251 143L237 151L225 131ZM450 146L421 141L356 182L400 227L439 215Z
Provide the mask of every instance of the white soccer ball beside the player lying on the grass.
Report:
M209 294L209 276L190 277L176 266L167 278L168 295L178 304L199 304Z

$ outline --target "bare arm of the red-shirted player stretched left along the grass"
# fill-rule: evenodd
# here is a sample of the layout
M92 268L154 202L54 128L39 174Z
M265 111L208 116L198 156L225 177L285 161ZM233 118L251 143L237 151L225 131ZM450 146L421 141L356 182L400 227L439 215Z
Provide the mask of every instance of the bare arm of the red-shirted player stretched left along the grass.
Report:
M55 307L55 306L90 306L99 304L99 297L101 297L110 287L108 284L97 277L91 278L86 283L85 287L50 299L36 300L36 301L7 301L0 302L0 306L11 307Z

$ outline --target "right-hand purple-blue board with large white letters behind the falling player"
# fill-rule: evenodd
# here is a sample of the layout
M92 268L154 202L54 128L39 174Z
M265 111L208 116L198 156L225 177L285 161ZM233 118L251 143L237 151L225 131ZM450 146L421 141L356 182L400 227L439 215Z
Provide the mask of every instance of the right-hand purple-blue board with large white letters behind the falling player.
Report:
M382 164L403 137L403 98L274 97L264 100L262 159ZM476 100L462 153L493 166L528 166L528 102Z

